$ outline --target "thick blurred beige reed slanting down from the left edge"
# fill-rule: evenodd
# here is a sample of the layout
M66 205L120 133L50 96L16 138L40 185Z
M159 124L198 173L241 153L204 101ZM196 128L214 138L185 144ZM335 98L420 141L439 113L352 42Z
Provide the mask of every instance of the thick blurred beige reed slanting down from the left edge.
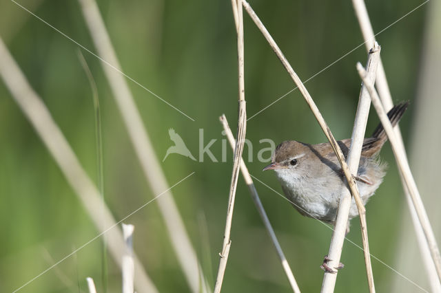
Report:
M110 213L107 206L103 204L101 194L93 184L92 180L90 180L90 177L85 173L68 141L65 139L63 133L50 115L48 108L45 107L34 89L30 87L25 76L20 71L17 63L15 63L1 39L0 75L10 90L12 97L28 120L30 120L32 126L37 131L41 140L43 140L55 162L59 165L70 186L72 186L76 195L78 195L97 230L101 233L106 232L108 239L107 247L116 263L121 267L121 259L124 252L124 241L121 230L117 228L109 228L116 226L116 221L114 220L112 213ZM97 211L101 211L101 213L97 213ZM134 256L134 261L136 268L135 285L138 288L138 291L157 292L158 290L156 290L156 287L150 280L149 276L147 276L141 262L136 256ZM48 270L50 270L50 268ZM47 272L48 270L45 270L44 272ZM39 274L39 276L41 274ZM34 279L28 281L28 283L32 282ZM28 283L25 283L21 287L28 285Z

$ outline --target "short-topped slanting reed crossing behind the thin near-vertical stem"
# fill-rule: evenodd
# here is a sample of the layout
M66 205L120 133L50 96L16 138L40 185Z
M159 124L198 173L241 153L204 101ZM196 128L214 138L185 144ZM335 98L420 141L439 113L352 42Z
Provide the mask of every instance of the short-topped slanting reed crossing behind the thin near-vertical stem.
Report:
M233 136L232 130L229 129L228 121L225 115L220 116L219 118L220 122L223 125L223 129L225 130L225 135L227 135L229 144L232 146L232 149L234 150L234 146L236 145L236 140ZM262 202L260 202L260 197L256 191L256 187L254 186L254 182L252 180L252 177L249 175L247 166L245 165L245 162L243 161L243 158L240 159L240 171L242 172L243 179L245 180L245 183L248 186L249 194L251 195L254 204L256 204L256 208L258 210L258 213L260 217L262 218L263 224L265 225L265 228L268 231L269 238L271 239L274 248L276 248L276 252L278 254L278 257L280 259L280 262L282 263L283 270L285 270L285 274L287 275L289 284L291 285L291 288L293 292L300 293L300 289L297 285L296 279L294 278L294 274L291 271L291 268L289 267L289 263L285 257L285 254L283 253L283 250L280 246L280 243L278 243L276 233L274 232L273 227L271 226L271 223L269 222L267 213L265 212L265 208L263 208Z

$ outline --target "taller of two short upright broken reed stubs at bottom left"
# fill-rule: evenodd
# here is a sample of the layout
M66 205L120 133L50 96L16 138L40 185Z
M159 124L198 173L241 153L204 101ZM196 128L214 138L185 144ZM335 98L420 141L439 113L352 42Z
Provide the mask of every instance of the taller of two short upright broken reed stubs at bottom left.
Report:
M123 255L123 293L133 293L134 265L133 265L133 225L123 224L125 254Z

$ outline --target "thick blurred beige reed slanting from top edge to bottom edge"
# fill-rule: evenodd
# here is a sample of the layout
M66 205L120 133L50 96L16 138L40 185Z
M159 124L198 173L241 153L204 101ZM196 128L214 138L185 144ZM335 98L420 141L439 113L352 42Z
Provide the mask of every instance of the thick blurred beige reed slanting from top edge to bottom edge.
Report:
M92 35L95 47L101 60L105 60L103 70L113 91L116 104L118 105L125 126L130 135L139 162L143 169L145 179L150 184L154 194L167 190L167 180L156 158L152 142L147 129L145 129L141 115L136 108L134 98L124 76L121 74L121 66L116 58L114 48L107 34L99 8L94 0L79 0L84 19ZM110 66L107 66L110 65ZM116 70L115 70L116 69ZM192 292L207 292L207 283L203 272L200 270L196 252L187 235L181 215L179 214L172 193L167 191L158 198L158 207L165 221L167 233L176 252L179 264L185 274L187 283Z

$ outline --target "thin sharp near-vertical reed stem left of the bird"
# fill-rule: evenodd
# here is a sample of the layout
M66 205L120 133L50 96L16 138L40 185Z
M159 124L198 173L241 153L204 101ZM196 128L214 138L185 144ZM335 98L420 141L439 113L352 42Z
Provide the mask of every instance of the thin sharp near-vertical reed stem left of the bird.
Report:
M243 12L242 0L232 1L233 14L236 23L237 32L237 52L238 52L238 126L237 126L237 142L234 149L234 163L232 171L232 180L229 187L229 199L227 207L227 220L225 223L225 232L223 238L222 251L220 252L218 273L216 283L214 284L214 292L220 292L223 282L223 276L227 267L229 249L232 244L230 233L232 229L234 199L236 198L236 188L239 176L239 164L242 158L243 145L245 143L245 133L247 129L247 110L245 103L245 78L244 78L244 50L243 50ZM236 15L237 13L237 15Z

